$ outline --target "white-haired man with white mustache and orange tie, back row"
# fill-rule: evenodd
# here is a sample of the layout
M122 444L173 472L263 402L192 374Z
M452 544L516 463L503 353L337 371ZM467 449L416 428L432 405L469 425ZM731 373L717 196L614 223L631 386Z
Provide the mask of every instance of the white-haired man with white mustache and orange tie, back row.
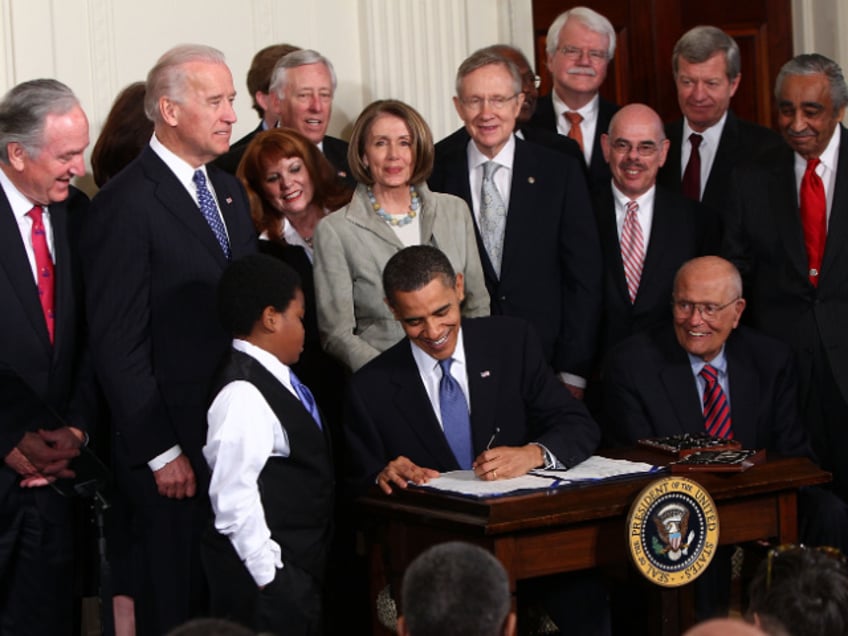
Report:
M561 13L548 29L546 53L553 91L539 98L531 126L571 137L583 151L589 187L604 187L609 169L601 155L601 134L618 105L598 91L615 55L615 29L607 18L587 7Z

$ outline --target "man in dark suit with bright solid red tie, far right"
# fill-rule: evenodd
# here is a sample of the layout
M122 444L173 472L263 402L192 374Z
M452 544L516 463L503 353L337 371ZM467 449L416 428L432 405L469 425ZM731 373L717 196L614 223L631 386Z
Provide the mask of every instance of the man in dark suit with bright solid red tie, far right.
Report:
M750 324L795 350L813 450L848 499L848 86L833 60L799 55L775 99L788 147L739 168L724 251Z

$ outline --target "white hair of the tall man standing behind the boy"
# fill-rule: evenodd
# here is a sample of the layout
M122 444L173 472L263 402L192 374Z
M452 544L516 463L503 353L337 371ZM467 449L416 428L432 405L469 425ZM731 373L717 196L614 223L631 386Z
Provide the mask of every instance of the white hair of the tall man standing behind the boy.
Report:
M181 102L188 88L186 65L190 62L225 64L224 54L204 44L180 44L165 52L156 66L147 74L147 93L144 96L144 114L154 123L160 123L159 100L168 97Z

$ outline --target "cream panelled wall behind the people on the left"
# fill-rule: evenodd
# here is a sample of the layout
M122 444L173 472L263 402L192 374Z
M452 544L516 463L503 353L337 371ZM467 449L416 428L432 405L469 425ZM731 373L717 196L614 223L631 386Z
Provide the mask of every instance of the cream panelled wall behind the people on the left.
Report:
M314 48L339 86L330 133L347 137L362 108L403 99L436 139L459 120L453 78L471 51L512 42L532 54L531 0L0 0L0 91L55 77L79 96L92 142L112 101L144 79L156 59L184 42L221 49L233 71L239 121L257 124L245 77L253 54L277 42ZM91 190L88 183L81 184Z

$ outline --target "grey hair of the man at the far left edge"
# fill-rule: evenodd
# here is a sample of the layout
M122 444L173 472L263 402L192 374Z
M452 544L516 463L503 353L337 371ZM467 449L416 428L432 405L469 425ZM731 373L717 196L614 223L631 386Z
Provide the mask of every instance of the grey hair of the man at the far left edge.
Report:
M9 163L10 143L31 157L41 152L48 115L64 115L79 106L73 91L54 79L36 79L12 88L0 102L0 161Z

